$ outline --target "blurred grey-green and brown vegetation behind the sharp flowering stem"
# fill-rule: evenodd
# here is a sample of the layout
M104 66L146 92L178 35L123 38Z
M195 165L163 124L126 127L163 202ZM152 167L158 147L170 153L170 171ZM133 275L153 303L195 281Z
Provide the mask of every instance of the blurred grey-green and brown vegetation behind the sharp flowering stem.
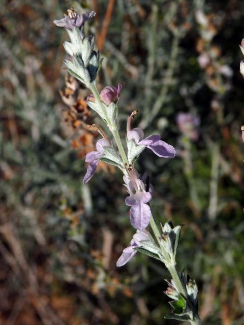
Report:
M121 174L100 163L82 185L96 135L82 86L65 82L60 19L73 6L104 57L100 88L121 82L120 131L157 133L177 156L144 151L158 220L184 223L178 268L199 286L204 324L244 324L244 4L238 0L2 0L0 34L0 323L176 324L164 266L137 254L116 268L134 233ZM77 87L79 98L77 99ZM62 90L63 103L59 90ZM197 139L176 116L200 118Z

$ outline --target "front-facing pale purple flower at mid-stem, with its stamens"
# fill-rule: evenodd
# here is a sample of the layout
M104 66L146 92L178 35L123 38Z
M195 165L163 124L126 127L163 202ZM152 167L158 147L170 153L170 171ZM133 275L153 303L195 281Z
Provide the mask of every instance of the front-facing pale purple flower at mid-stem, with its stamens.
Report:
M147 204L151 200L151 193L145 190L145 184L139 179L132 165L129 166L127 171L129 176L124 175L123 178L130 194L126 198L126 205L131 207L131 224L135 229L143 230L148 226L151 217L151 210Z

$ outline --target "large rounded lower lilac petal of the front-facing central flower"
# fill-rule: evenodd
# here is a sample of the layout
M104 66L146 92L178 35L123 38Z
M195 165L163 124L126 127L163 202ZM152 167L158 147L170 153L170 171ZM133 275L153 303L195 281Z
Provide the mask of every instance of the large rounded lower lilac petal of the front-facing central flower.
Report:
M137 205L131 207L131 224L135 229L143 230L148 226L151 217L151 210L147 204L138 201Z

